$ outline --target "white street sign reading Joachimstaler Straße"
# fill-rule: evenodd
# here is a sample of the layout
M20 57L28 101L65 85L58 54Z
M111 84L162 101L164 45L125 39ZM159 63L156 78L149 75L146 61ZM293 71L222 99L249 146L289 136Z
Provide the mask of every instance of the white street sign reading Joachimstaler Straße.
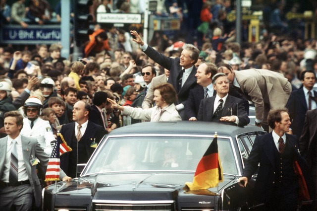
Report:
M97 13L98 23L141 23L141 14L133 13Z

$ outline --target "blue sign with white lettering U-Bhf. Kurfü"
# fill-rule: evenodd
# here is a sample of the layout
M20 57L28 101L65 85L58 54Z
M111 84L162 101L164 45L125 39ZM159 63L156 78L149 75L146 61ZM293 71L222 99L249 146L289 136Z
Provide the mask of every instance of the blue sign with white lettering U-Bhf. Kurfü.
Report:
M59 42L61 32L59 25L32 25L21 28L19 25L1 27L1 43L10 44L52 44Z

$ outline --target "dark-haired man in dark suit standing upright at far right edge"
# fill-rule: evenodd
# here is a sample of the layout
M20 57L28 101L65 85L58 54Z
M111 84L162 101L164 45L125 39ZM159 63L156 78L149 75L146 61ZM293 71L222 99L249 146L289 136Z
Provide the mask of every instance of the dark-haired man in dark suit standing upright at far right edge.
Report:
M289 116L292 121L292 133L298 137L302 134L307 110L317 108L315 101L317 92L313 89L316 82L314 71L303 71L301 73L301 81L303 83L303 87L291 92L285 106L289 110Z

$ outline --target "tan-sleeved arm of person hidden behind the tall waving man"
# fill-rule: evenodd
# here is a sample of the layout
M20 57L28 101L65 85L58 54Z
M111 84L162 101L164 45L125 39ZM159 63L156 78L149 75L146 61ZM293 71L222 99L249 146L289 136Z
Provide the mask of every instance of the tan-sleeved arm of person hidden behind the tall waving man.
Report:
M153 98L154 98L154 87L161 83L166 83L167 79L169 77L169 70L164 69L164 74L156 76L152 79L151 85L149 87L149 90L147 91L147 94L145 95L145 98L142 103L143 109L149 109L153 106Z

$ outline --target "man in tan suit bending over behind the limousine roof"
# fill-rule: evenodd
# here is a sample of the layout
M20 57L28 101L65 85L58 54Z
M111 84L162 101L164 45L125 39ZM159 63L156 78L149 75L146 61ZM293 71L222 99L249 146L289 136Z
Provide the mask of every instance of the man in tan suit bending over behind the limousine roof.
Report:
M234 88L254 103L256 126L262 126L268 132L268 112L284 107L292 91L287 78L270 70L232 70L227 64L221 64L218 71L225 73Z

